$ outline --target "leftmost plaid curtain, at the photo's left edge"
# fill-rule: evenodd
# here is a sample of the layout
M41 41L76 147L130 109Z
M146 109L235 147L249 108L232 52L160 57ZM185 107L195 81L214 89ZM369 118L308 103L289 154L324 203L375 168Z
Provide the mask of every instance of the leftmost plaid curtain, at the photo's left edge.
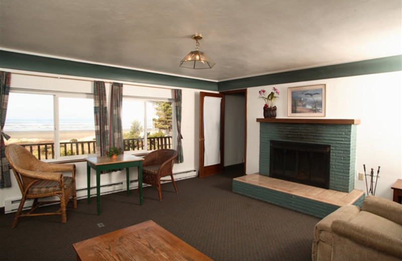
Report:
M5 155L5 148L6 145L4 143L4 139L10 139L10 136L3 133L4 124L6 123L6 115L7 115L7 105L9 102L9 92L10 92L10 81L11 81L11 73L9 72L0 72L0 126L2 127L2 138L0 143L0 150L1 150L1 168L2 173L0 175L0 188L7 188L11 187L11 180L10 180L10 170L9 170L9 162L7 161Z

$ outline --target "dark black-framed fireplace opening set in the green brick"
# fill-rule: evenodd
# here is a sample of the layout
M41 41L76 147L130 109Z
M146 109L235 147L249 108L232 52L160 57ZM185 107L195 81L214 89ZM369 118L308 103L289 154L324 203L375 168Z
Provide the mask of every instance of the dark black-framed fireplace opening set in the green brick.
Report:
M331 146L270 141L269 176L329 189Z

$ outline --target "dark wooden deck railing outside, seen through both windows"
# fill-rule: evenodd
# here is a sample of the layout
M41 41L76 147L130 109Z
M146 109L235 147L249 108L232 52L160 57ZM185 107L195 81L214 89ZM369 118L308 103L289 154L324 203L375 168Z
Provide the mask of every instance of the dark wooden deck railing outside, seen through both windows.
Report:
M140 151L145 149L144 139L125 139L123 140L124 151ZM54 159L54 143L35 143L20 144L29 150L39 160ZM172 137L148 138L148 150L171 149ZM38 153L40 152L40 153ZM60 155L85 155L96 153L96 142L61 142Z

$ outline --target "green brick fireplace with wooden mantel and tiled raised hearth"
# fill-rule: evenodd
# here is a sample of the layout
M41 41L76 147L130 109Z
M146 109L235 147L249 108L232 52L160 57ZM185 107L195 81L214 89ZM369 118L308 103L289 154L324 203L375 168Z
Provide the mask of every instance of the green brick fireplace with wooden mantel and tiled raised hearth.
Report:
M362 205L365 194L361 190L354 189L356 128L360 120L261 118L257 121L260 122L259 173L233 179L233 192L320 218L345 204ZM288 167L291 164L287 163L270 166L272 141L279 141L277 146L279 148L287 143L291 144L290 148L293 147L293 143L303 143L313 151L325 145L322 151L328 151L329 154L326 156L328 157L326 164L329 162L330 166L325 167L329 172L329 184L326 180L325 184L328 185L319 187L309 183L306 185L306 183L300 184L303 182L295 183L292 180L277 179L270 175L271 169L276 171L279 169L279 172L288 172L292 169ZM286 146L286 150L291 151ZM305 152L300 155L302 155L302 161L310 157L303 156L306 155ZM310 158L315 157L317 155ZM313 165L303 162L302 167L297 165L296 169L302 169L304 175L306 169L316 171L317 168Z

